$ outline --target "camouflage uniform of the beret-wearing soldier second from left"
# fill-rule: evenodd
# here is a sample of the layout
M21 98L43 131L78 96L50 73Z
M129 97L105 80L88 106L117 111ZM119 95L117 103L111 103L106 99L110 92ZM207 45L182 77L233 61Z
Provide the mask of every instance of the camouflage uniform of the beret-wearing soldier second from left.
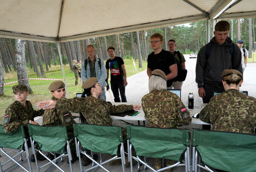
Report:
M58 100L52 97L52 100ZM76 123L69 111L59 109L47 109L44 111L42 126L63 125L67 127L69 139L74 137L73 124Z

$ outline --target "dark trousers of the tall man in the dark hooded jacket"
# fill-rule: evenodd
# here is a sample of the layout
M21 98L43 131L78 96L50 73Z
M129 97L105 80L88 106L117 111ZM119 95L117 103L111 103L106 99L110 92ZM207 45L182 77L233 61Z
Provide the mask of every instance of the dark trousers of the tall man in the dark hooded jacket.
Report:
M210 99L214 96L214 92L223 93L225 91L222 83L219 83L219 84L204 83L204 90L205 90L205 96L203 98L203 103L209 103ZM211 126L203 124L202 129L211 130Z

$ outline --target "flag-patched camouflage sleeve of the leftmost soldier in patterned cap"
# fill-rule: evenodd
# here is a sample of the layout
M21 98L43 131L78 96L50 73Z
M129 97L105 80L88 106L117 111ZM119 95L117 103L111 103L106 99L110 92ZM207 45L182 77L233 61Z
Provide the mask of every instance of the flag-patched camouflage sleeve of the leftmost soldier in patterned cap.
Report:
M28 122L29 120L21 121L17 114L17 110L12 107L8 107L6 109L6 115L3 121L3 130L6 133L11 133L18 130L22 124L25 126L26 124L28 124Z

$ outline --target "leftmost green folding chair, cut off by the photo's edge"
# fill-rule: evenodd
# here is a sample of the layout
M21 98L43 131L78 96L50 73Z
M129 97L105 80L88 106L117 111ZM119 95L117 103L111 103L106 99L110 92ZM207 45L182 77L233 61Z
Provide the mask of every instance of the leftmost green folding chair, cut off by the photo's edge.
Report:
M8 154L4 148L14 149L16 155L12 156ZM17 166L20 166L26 172L31 172L31 164L29 159L29 147L26 139L26 133L24 127L21 126L18 130L12 133L5 133L3 130L3 126L0 125L0 150L9 158L8 161L1 164L0 162L0 172L11 171L15 169ZM23 160L22 153L26 153L26 158ZM20 159L17 158L20 156ZM3 166L7 166L9 162L15 162L15 164L7 167L3 170ZM22 164L24 162L28 162L29 169L26 169Z

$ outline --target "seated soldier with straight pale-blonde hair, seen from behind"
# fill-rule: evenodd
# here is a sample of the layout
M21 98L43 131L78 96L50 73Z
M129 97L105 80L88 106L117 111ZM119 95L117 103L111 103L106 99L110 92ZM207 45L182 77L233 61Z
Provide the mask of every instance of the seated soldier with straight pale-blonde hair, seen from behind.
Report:
M148 127L177 128L191 124L189 111L175 93L166 90L166 82L167 77L162 70L152 71L148 81L149 93L141 99ZM174 161L165 161L166 166L174 164ZM154 158L155 169L160 169L161 166L161 159ZM172 171L172 169L166 171Z

